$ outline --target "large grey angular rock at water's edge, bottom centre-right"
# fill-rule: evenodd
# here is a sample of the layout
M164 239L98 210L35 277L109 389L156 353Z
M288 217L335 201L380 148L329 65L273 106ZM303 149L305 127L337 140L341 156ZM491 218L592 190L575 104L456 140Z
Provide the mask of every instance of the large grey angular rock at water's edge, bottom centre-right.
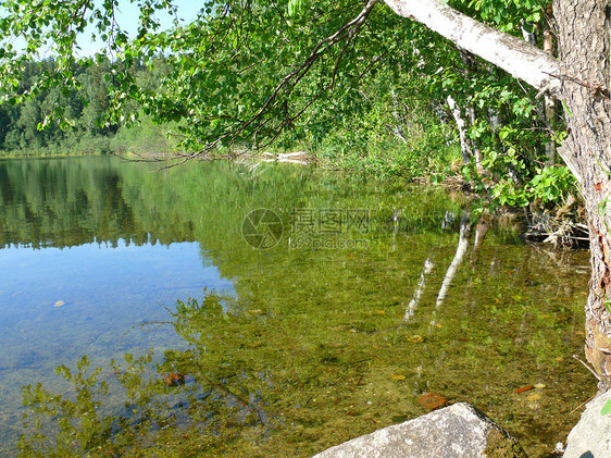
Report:
M525 458L513 437L465 403L328 448L314 458Z

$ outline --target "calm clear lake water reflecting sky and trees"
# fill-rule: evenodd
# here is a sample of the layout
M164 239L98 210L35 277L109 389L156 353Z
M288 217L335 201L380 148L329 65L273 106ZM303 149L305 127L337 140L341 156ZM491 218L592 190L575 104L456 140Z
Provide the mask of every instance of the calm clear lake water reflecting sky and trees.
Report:
M429 392L545 456L596 391L572 358L588 253L463 208L291 165L0 161L0 455L33 432L22 386L75 399L55 367L83 355L110 386L99 416L126 419L109 434L148 424L116 379L134 394L129 355L152 351L138 403L165 417L133 456L307 457L426 413Z

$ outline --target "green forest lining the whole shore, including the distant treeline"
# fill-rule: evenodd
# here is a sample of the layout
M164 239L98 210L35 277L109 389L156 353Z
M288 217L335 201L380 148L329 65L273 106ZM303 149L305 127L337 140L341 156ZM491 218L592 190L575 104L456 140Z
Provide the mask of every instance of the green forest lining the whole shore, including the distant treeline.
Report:
M565 135L559 103L537 98L536 89L419 24L406 26L388 10L369 15L358 29L361 39L345 37L345 50L325 44L324 53L306 62L308 73L297 66L274 87L295 64L290 53L306 55L314 36L340 28L350 14L338 9L341 14L327 21L323 10L312 23L313 11L301 2L290 8L290 18L253 8L251 17L242 16L241 32L235 30L235 44L199 42L189 25L128 51L115 42L114 60L100 53L14 65L12 96L5 97L22 103L0 104L0 153L226 157L306 150L333 170L434 183L458 177L492 207L562 207L577 196L556 152ZM484 2L472 13L553 51L551 12L538 2L511 4L502 13ZM204 27L222 30L213 16ZM288 54L274 57L265 24L280 38L285 34L285 41L297 34ZM180 39L184 49L176 45ZM216 58L196 64L208 51ZM72 83L53 83L66 72Z

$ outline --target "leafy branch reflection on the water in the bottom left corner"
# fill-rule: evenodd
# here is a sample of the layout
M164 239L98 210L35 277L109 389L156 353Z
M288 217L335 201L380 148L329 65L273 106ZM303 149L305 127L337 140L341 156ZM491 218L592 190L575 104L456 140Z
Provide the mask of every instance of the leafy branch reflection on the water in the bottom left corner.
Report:
M101 409L109 382L101 377L100 368L88 373L87 356L77 361L75 372L63 364L57 368L72 387L66 395L51 393L40 383L24 386L24 405L28 407L24 426L32 426L33 433L22 435L20 456L76 457L91 451L96 456L115 456L151 429L167 425L170 406L163 398L167 389L162 380L146 373L151 359L151 352L138 358L126 354L125 366L111 363L126 399L119 414Z

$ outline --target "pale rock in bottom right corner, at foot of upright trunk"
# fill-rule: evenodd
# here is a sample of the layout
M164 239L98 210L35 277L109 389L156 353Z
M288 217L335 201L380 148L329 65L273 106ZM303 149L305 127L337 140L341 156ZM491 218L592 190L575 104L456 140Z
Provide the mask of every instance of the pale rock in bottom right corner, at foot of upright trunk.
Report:
M601 414L602 406L611 399L611 392L596 396L586 404L579 422L566 437L563 458L610 458L611 413Z

